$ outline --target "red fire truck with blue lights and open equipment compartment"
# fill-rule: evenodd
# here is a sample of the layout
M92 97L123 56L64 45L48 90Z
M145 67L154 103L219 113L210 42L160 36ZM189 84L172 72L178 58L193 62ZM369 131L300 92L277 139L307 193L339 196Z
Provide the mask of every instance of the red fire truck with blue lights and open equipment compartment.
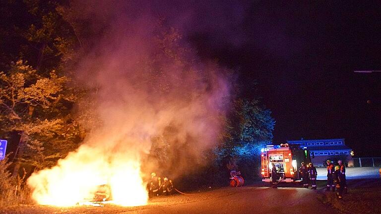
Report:
M301 147L300 144L268 145L261 150L262 181L271 181L272 163L277 170L277 181L300 181L298 169L301 162L311 162L310 152L306 147Z

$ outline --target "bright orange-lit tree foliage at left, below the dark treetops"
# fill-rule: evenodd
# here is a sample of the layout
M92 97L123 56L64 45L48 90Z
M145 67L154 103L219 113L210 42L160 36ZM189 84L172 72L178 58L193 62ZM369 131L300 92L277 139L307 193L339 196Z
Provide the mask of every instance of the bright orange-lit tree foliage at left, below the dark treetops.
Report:
M80 133L69 113L75 95L66 87L68 81L54 70L48 77L41 76L22 60L7 74L0 72L1 131L21 135L18 152L22 151L19 158L24 163L52 166L75 149Z

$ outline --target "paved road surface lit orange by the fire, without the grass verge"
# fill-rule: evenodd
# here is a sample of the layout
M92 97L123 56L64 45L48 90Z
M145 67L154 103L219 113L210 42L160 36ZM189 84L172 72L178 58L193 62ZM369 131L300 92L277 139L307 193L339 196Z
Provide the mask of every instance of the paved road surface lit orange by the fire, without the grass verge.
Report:
M172 195L150 200L147 206L123 208L79 206L54 208L23 206L0 211L1 214L337 214L322 204L319 190L304 188L267 188L246 186L220 188L191 195Z

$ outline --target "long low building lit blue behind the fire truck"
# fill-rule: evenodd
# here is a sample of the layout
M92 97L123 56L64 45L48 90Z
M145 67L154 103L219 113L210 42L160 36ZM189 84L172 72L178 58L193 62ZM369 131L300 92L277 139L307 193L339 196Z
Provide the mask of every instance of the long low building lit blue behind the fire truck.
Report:
M343 160L347 166L353 166L351 148L345 145L344 139L322 139L322 140L290 140L288 144L300 144L310 151L311 161L315 166L325 166L326 160Z

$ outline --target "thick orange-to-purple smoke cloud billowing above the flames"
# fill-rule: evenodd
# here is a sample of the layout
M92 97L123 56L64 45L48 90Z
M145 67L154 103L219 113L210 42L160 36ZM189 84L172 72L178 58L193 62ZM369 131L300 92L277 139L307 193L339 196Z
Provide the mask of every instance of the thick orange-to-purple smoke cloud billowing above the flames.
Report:
M99 120L86 144L144 160L146 172L177 176L199 164L217 143L226 70L197 58L183 38L186 23L168 7L90 2L74 4L94 29L83 36L90 51L78 68L79 81L96 88L90 100Z

